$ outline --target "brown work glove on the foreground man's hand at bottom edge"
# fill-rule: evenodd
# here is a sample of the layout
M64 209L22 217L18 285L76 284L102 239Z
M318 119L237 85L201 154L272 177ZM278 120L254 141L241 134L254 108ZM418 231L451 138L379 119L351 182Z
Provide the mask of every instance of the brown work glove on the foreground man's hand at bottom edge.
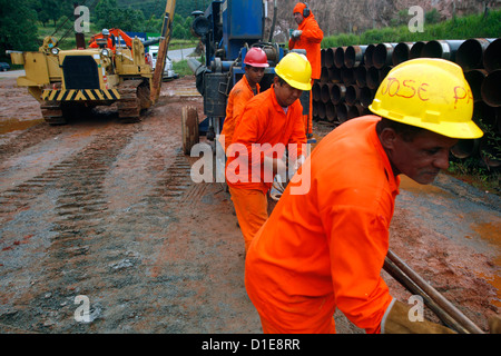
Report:
M386 319L383 319L381 333L384 334L456 334L454 330L432 322L411 322L411 308L402 301L395 300L391 306Z

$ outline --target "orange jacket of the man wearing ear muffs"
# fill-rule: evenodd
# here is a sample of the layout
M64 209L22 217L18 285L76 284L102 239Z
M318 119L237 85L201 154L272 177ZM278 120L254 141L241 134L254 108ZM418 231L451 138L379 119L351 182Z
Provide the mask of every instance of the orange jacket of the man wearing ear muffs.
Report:
M304 3L301 4L304 6ZM321 42L324 38L324 32L318 27L313 13L304 18L297 29L303 31L303 33L301 33L298 39L291 38L288 40L288 49L305 49L306 57L310 65L312 65L312 79L320 79L322 71Z

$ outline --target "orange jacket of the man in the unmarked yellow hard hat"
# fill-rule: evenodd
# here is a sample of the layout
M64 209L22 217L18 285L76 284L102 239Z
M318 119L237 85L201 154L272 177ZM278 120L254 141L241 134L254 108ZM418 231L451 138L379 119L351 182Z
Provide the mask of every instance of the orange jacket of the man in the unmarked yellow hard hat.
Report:
M289 149L292 159L305 152L306 134L299 100L286 110L276 101L275 85L247 102L240 120L236 122L233 145L226 152L228 186L258 189L266 194L273 177L263 169L264 157L282 158L285 148Z

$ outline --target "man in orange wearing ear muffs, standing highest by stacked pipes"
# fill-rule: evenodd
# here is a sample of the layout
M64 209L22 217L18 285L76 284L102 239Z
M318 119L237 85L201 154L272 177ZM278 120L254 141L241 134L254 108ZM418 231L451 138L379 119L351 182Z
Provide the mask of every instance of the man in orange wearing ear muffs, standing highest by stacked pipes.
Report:
M306 57L312 65L312 82L320 79L321 65L321 42L324 38L324 32L320 29L312 10L306 3L298 2L293 10L294 20L298 24L297 30L292 32L288 40L288 49L304 49ZM313 117L313 99L310 92L310 113L304 116L304 125L306 135L312 136L312 117Z

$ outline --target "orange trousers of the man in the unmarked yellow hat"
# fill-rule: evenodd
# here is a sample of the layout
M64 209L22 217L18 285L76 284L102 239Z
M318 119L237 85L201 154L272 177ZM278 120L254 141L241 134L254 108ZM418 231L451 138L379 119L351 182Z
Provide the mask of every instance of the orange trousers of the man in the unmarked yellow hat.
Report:
M268 218L268 199L259 189L228 188L247 253L254 236Z

